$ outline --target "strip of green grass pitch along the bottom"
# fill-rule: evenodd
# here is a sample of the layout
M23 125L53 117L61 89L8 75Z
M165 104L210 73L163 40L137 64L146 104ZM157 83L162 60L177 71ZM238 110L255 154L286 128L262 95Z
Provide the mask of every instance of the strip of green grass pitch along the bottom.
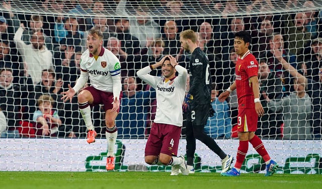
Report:
M0 171L0 188L322 188L322 174L242 173L239 177L224 177L220 173L196 172L188 176L170 176L170 172L109 171L109 172L39 172Z

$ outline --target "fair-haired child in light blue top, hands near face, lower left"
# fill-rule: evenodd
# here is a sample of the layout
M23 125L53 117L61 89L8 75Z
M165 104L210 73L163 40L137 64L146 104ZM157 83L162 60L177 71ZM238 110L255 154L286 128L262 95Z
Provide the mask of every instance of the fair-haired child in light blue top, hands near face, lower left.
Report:
M53 109L54 99L49 95L41 95L38 98L38 110L34 112L37 136L57 136L61 120L57 110Z

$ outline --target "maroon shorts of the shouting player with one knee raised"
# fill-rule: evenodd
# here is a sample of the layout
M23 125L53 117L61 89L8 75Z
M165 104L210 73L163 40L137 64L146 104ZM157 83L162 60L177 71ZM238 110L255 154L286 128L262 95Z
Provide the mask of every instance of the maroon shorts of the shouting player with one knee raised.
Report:
M91 107L99 105L99 104L104 104L104 111L110 110L113 108L113 104L112 104L113 103L113 93L95 89L93 86L86 87L84 90L90 91L90 93L93 96L93 103L90 104ZM119 96L120 104L121 104L122 96L123 95L121 92L121 94ZM117 110L117 112L119 112L119 111L120 111L120 107Z

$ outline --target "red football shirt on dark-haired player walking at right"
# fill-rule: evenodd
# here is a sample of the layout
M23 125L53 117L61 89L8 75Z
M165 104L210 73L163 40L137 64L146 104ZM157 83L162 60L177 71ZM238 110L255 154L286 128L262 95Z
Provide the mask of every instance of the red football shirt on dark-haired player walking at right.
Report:
M258 68L258 62L250 51L245 53L243 57L237 58L235 82L238 108L255 108L253 85L250 78L257 77Z

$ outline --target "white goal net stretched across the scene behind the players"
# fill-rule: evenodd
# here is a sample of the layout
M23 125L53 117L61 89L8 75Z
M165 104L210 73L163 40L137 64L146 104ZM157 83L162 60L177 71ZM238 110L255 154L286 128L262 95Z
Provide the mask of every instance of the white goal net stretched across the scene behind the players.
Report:
M0 170L105 169L103 105L91 107L98 136L94 145L88 145L77 96L63 102L60 94L68 85L73 87L79 77L81 56L92 28L102 31L104 48L121 64L123 97L116 118L116 170L170 170L144 163L156 100L155 90L136 72L168 54L189 70L190 52L181 50L179 34L191 29L209 58L217 95L235 80L234 33L250 32L250 50L259 63L260 100L265 110L256 134L281 165L278 172L321 173L321 0L3 1ZM160 69L150 74L162 76ZM216 102L214 98L215 116L209 118L205 132L227 154L235 156L236 92L225 103ZM185 154L185 125L186 120L178 154ZM197 171L221 171L220 158L199 141L195 155ZM241 170L264 169L263 159L250 150Z

